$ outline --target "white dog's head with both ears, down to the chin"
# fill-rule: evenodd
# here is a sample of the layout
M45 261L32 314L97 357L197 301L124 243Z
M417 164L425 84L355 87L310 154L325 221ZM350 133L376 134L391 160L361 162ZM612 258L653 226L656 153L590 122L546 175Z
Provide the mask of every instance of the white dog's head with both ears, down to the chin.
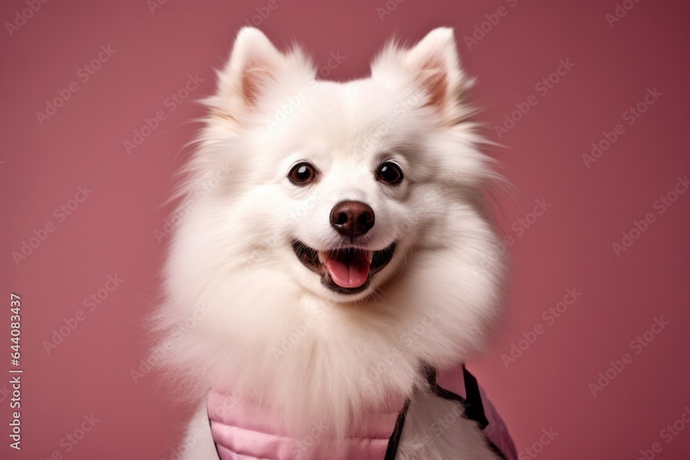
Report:
M371 78L315 77L299 50L239 33L197 158L204 174L232 171L215 190L226 193L215 212L233 216L212 238L215 254L244 274L270 268L319 297L361 301L415 248L449 243L462 228L455 199L476 199L489 169L463 123L469 81L451 30L411 50L389 46Z

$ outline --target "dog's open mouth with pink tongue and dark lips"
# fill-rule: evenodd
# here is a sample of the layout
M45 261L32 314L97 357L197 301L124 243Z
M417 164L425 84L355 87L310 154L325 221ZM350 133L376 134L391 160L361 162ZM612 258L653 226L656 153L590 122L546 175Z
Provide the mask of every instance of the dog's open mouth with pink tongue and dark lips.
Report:
M326 288L339 294L357 294L368 288L371 275L391 261L395 241L378 251L359 248L317 251L295 240L293 250L306 268L321 275L321 283Z

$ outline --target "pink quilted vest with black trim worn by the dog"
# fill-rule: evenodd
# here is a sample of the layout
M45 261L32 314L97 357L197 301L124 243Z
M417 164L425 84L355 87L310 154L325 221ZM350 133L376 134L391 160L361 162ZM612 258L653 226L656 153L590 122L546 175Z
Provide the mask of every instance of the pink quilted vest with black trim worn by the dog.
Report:
M431 368L425 373L433 394L460 403L464 417L477 422L489 448L498 457L517 460L515 444L503 420L464 366L438 379ZM379 412L367 414L367 426L352 428L337 452L326 441L327 425L315 424L311 433L302 439L290 437L274 414L227 392L210 392L208 420L221 460L393 460L408 403L391 401Z

